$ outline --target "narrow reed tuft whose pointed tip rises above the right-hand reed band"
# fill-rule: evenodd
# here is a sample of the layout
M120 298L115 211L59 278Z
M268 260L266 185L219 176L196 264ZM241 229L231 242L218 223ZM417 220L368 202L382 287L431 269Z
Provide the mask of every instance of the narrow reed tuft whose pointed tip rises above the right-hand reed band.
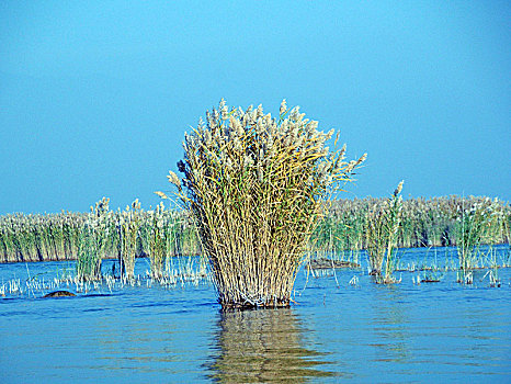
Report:
M397 236L401 224L402 183L401 181L398 184L388 201L370 211L367 216L366 241L371 274L383 283L396 282L391 274L395 269ZM382 276L384 259L385 275Z

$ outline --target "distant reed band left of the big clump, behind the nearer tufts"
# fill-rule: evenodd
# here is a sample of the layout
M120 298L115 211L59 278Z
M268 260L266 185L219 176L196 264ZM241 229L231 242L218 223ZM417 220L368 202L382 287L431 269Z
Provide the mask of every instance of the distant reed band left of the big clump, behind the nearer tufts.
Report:
M169 256L192 256L201 252L196 231L188 217L180 212L138 211L139 228L136 236L122 234L125 212L109 211L102 222L101 237L106 259L116 259L128 247L137 257L149 253L155 229L166 224L171 233ZM0 216L0 262L77 260L83 244L88 242L87 230L94 226L94 213L61 212L56 214L9 214ZM126 241L130 244L126 245Z

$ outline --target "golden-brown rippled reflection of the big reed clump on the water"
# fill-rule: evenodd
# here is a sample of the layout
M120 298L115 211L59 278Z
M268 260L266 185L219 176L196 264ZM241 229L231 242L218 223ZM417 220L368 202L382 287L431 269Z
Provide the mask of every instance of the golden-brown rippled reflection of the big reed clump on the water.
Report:
M331 376L314 369L325 362L303 345L303 329L292 308L220 312L216 345L218 355L212 377L220 383L303 383L308 377Z

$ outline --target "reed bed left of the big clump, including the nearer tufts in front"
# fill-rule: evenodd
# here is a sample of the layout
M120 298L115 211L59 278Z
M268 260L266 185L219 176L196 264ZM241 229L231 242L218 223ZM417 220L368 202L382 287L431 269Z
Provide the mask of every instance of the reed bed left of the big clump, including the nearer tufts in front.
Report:
M149 257L157 276L166 258L201 253L196 229L182 212L137 204L110 211L103 197L89 213L0 216L0 262L77 260L78 275L96 280L103 259L120 259L130 274L135 257Z

